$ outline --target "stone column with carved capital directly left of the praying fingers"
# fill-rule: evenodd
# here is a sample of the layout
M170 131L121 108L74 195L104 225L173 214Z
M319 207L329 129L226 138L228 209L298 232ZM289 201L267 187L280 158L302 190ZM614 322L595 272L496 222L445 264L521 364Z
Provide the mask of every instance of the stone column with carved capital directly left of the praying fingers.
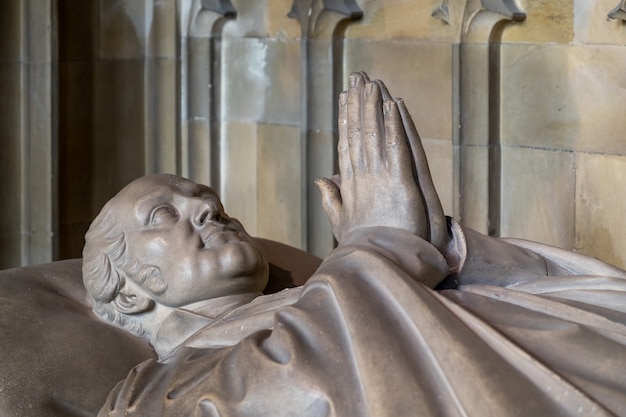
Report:
M353 0L294 0L290 17L298 19L302 33L302 157L303 218L306 248L325 256L334 246L330 224L314 181L336 170L337 96L343 76L343 32L347 23L362 16Z

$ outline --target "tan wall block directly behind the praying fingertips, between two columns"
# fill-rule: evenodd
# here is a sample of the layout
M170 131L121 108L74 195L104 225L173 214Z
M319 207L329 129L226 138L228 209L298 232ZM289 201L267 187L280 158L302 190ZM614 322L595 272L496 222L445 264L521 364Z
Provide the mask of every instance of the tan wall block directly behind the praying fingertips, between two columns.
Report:
M404 98L423 137L451 139L452 51L445 42L347 40L343 80L353 71L384 80Z

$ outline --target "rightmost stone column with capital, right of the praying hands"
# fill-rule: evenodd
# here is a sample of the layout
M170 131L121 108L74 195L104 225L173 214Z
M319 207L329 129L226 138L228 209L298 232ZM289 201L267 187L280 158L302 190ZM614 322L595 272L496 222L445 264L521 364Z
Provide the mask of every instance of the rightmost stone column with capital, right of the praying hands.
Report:
M512 0L468 0L459 58L459 211L464 225L500 230L500 53L504 27L525 19Z

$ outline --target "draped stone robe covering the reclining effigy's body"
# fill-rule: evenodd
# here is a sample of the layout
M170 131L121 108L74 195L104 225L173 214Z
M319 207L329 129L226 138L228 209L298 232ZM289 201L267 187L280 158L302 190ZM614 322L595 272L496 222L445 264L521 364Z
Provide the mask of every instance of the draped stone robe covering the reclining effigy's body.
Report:
M455 274L409 232L354 233L303 287L137 366L100 415L626 415L626 273L455 230Z

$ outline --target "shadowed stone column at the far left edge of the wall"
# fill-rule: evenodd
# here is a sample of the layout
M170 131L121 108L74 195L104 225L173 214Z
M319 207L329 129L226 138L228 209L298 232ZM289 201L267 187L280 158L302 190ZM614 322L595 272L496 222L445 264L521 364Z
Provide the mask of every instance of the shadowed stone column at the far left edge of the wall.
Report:
M56 1L0 3L0 268L57 252Z

